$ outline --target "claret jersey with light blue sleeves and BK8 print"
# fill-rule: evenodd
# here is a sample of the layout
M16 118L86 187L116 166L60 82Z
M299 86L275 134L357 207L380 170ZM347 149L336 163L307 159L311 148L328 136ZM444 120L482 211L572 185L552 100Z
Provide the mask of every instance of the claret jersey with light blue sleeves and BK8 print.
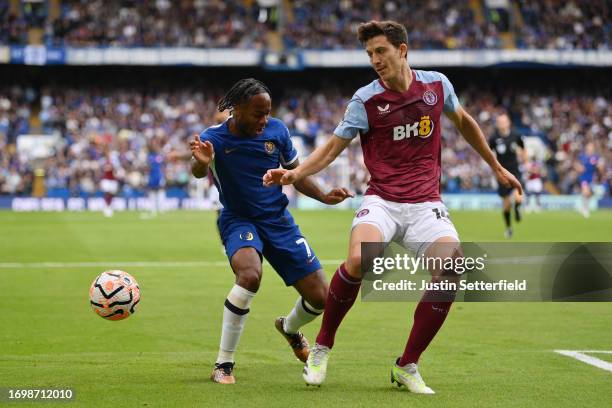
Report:
M405 92L380 79L357 90L334 134L360 136L371 175L366 195L398 203L440 201L440 116L460 108L446 76L412 70Z

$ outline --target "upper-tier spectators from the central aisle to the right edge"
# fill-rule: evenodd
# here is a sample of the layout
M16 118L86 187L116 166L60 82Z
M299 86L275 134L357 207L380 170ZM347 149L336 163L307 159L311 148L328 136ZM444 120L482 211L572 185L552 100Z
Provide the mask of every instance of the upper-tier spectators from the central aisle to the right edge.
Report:
M358 48L357 25L371 19L404 23L412 49L508 47L502 32L512 34L509 44L516 48L609 49L612 45L612 8L600 0L515 0L503 9L488 8L487 2L478 9L474 2L452 0L298 0L293 4L293 19L284 33L289 48Z

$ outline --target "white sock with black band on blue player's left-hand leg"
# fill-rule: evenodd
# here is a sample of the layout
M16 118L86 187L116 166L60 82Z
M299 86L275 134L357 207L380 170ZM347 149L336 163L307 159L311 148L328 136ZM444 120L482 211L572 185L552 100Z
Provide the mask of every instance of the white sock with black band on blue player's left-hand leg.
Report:
M234 285L227 295L223 309L223 327L217 363L234 362L234 354L254 296L255 293L238 285Z

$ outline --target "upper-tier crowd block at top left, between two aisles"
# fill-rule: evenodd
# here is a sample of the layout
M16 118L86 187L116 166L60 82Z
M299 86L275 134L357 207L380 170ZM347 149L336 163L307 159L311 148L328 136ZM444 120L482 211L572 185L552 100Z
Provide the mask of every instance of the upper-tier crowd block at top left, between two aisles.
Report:
M257 16L239 0L71 0L45 34L53 45L262 48L268 26Z

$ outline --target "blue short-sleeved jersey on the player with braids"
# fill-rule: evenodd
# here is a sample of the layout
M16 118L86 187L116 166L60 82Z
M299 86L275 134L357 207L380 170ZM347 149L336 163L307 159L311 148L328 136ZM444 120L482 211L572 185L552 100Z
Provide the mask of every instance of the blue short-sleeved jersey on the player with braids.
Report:
M246 218L282 215L289 203L282 187L264 187L262 181L268 170L297 160L282 121L270 118L262 134L237 137L226 120L202 132L200 140L211 142L215 150L210 170L225 210Z

